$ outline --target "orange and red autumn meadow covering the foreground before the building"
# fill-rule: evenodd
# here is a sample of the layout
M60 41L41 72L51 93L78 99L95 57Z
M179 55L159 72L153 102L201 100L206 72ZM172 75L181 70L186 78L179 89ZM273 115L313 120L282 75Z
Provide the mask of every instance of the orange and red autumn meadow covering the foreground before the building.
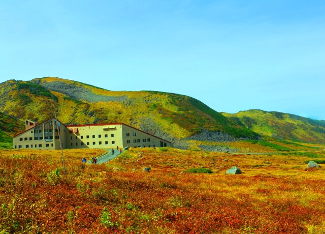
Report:
M325 170L305 161L325 155L306 149L137 148L100 165L81 158L101 150L64 150L67 175L60 151L2 150L0 233L324 233ZM201 167L214 173L184 172Z

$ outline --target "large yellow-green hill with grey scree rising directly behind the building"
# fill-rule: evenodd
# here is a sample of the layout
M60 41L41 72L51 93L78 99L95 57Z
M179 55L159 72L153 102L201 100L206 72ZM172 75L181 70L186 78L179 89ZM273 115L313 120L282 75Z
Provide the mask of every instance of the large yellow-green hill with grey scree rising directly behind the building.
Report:
M113 92L56 77L1 83L0 111L20 120L42 122L53 116L51 93L58 119L65 124L123 122L170 140L198 134L203 128L237 138L257 137L253 131L188 96Z

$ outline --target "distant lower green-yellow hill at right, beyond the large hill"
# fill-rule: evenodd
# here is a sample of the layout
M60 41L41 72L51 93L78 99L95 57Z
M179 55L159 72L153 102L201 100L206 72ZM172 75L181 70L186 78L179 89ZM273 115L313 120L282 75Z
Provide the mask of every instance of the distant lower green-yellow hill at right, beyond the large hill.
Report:
M264 136L314 143L325 142L325 121L263 110L247 110L239 111L235 114L222 114Z

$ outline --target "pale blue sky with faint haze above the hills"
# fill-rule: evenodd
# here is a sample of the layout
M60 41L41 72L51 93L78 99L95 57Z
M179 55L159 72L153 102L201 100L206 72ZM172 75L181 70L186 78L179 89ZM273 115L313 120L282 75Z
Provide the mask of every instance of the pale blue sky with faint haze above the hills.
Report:
M325 1L0 0L0 82L45 76L325 120Z

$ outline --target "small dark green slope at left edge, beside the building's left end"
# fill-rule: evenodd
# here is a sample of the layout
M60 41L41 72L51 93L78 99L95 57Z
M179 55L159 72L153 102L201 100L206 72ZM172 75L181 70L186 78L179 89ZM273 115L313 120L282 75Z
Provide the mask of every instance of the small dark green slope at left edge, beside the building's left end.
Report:
M0 148L12 148L12 136L23 130L21 122L0 112Z

